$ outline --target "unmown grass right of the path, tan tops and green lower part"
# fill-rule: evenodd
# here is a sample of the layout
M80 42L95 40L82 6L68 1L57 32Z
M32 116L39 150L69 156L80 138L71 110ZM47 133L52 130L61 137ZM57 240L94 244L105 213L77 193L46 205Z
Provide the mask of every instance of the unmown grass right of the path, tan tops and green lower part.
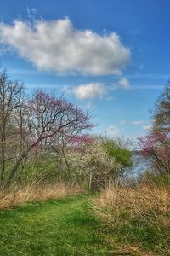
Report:
M105 189L94 213L109 227L117 255L170 255L169 187Z

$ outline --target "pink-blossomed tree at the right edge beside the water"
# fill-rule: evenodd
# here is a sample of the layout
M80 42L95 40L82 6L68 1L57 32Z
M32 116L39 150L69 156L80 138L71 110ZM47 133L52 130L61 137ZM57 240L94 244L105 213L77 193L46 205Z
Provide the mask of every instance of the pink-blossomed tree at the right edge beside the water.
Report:
M170 135L156 131L146 137L139 137L139 149L160 174L170 173Z

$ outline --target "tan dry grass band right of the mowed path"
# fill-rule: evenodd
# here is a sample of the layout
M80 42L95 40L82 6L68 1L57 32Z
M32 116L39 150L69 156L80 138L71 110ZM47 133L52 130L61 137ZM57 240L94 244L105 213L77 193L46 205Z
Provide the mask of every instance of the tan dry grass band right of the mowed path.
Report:
M128 218L147 218L149 215L159 218L160 213L170 212L170 187L112 187L103 190L94 205L95 212L109 222L114 219L117 222L123 212L128 212Z

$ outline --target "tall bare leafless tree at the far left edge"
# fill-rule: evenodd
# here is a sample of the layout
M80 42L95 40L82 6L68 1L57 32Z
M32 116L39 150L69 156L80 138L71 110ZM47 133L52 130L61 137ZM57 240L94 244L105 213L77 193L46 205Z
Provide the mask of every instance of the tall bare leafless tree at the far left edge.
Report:
M20 108L20 96L23 84L8 79L6 71L0 74L0 166L1 183L8 161L13 159L16 153L16 141L20 137L17 127L14 125L14 115Z

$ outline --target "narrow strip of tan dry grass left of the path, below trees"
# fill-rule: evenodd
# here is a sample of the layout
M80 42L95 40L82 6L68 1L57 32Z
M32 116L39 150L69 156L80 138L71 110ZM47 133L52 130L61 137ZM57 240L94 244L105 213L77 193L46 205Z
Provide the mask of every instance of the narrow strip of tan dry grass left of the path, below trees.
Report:
M0 190L0 209L10 208L27 201L59 199L67 195L77 195L82 189L76 186L57 184L32 184L26 187Z

